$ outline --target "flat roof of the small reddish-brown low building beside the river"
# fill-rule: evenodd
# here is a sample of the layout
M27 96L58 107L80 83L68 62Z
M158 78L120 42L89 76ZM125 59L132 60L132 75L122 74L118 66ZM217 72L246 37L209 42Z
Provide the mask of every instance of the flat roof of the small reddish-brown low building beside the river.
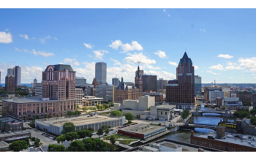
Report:
M165 129L165 127L142 124L142 123L121 128L122 131L133 132L138 134L150 134L152 132L157 132L161 129Z

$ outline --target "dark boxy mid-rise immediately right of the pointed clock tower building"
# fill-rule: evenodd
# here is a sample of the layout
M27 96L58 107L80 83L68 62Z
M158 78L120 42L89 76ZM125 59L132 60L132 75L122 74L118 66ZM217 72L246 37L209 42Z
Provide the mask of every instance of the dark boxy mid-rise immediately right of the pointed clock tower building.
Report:
M157 92L157 75L142 75L143 92L155 91Z

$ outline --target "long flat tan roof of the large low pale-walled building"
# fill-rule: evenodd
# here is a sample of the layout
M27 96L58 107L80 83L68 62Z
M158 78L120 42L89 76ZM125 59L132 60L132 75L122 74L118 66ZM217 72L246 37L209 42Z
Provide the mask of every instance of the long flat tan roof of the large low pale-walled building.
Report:
M93 117L87 117L86 115L72 117L72 118L59 118L59 119L52 119L49 121L44 121L45 123L52 124L54 126L63 126L66 122L72 122L75 126L82 126L91 123L100 123L105 121L113 121L118 120L119 118L111 118L108 116L101 116L101 115L94 115ZM40 120L36 120L40 121Z

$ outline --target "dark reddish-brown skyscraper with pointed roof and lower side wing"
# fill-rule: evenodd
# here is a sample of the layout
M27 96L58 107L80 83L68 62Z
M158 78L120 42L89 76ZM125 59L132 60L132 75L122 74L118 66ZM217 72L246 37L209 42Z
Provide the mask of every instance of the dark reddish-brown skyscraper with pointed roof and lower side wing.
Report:
M176 68L176 80L166 84L166 101L178 109L192 110L195 107L195 77L191 59L184 53Z

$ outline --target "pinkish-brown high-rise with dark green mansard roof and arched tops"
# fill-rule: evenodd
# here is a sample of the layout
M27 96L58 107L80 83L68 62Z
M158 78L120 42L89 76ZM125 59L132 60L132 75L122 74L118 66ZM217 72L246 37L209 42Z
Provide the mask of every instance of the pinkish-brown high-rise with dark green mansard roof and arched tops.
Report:
M42 72L42 98L75 99L75 71L70 65L49 65Z

